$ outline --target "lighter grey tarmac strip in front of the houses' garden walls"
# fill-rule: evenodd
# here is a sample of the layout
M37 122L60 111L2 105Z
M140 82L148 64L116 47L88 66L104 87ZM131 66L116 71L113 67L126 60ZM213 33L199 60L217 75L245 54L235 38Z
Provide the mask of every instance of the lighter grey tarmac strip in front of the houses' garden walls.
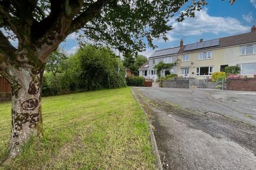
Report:
M256 126L256 92L218 89L140 88L148 97L194 109L213 112Z

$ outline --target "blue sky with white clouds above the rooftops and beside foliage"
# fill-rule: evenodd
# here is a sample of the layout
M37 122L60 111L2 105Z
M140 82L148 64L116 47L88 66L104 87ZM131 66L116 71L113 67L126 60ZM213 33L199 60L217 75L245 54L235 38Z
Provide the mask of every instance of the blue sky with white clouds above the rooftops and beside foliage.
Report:
M237 0L234 5L230 5L228 0L207 2L209 4L202 11L196 12L195 18L187 18L181 23L175 22L173 18L169 24L175 29L167 34L167 42L162 39L154 40L157 49L179 46L181 38L184 38L184 44L196 43L203 37L203 32L204 40L209 40L249 32L251 26L256 25L256 0ZM61 46L68 53L74 53L77 48L76 41L73 33ZM154 50L147 47L141 54L148 57Z

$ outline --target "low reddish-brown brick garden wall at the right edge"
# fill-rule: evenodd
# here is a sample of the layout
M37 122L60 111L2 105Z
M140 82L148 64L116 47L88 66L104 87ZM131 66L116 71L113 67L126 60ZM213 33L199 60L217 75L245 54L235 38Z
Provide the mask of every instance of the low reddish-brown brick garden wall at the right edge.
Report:
M256 91L256 79L227 79L225 87L226 90Z

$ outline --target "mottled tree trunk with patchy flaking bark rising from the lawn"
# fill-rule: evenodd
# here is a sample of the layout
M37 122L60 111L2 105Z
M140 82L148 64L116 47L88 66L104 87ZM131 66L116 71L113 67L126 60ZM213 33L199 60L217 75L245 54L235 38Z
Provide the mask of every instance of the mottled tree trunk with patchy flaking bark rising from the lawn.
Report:
M12 129L9 145L10 157L21 151L21 146L33 136L41 137L41 87L43 69L29 64L10 69L12 86Z

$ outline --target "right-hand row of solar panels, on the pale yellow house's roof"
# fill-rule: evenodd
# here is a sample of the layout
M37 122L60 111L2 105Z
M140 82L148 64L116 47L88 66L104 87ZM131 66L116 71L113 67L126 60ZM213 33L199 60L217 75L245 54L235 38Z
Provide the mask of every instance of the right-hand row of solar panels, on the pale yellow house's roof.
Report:
M193 49L200 49L200 48L207 48L220 45L220 39L213 39L209 41L204 41L202 43L194 43L186 45L184 51L193 50Z

